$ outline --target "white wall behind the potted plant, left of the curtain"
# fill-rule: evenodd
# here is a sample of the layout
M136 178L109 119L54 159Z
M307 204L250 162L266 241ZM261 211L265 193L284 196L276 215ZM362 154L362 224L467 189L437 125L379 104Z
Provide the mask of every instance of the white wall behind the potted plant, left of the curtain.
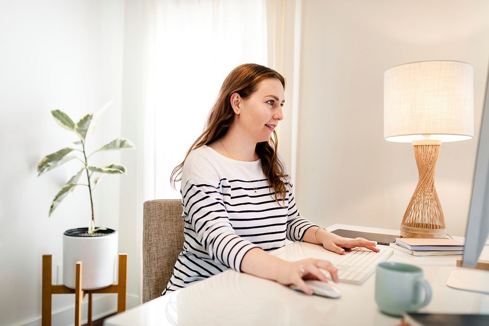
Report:
M52 198L79 164L39 178L36 165L77 140L56 124L52 109L77 121L113 100L89 149L121 136L123 23L124 1L0 1L0 325L40 325L42 255L53 255L56 271L63 232L88 226L89 196L82 187L47 216ZM94 163L119 159L116 152L100 153ZM115 229L119 178L108 175L95 190L97 224ZM72 324L74 296L52 298L53 325Z

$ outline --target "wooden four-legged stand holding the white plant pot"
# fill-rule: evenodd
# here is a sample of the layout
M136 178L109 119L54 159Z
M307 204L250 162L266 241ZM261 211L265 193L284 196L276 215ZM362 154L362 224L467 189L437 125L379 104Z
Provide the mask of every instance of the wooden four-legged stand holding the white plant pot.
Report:
M42 325L51 325L51 295L52 294L75 294L75 326L81 326L81 311L82 300L85 294L89 295L88 307L88 322L87 325L92 325L92 293L117 293L117 313L126 310L126 269L127 269L127 254L119 254L119 278L118 284L112 284L107 287L96 290L82 290L82 262L76 262L76 287L70 289L65 285L51 284L51 255L43 255L43 301L42 301Z

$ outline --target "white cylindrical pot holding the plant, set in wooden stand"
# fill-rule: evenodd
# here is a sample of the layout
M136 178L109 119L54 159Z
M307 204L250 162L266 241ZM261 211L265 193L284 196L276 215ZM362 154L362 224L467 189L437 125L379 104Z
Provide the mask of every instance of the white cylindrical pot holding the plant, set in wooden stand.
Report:
M94 290L115 282L117 245L119 235L111 232L99 237L77 237L88 228L67 230L63 234L63 283L74 289L76 282L76 262L82 261L82 288Z

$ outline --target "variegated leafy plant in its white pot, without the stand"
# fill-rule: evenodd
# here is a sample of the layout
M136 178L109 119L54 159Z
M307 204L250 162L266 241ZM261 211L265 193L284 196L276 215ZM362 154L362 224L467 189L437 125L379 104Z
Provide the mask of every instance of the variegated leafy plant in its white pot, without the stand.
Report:
M66 147L45 156L37 166L39 176L72 159L78 159L82 163L81 169L54 196L49 208L49 216L51 216L59 203L76 187L87 187L91 207L89 226L69 229L63 234L63 283L72 289L75 288L75 265L77 261L83 262L83 289L97 289L114 283L118 235L115 230L95 227L93 190L100 181L102 174L126 174L126 168L120 164L97 167L90 165L88 159L96 152L135 149L135 147L127 139L116 138L90 154L86 152L85 148L87 137L95 130L98 118L110 104L111 102L95 114L85 115L77 123L74 123L61 110L51 111L56 122L61 127L73 132L79 140L73 142L73 147ZM80 182L84 179L85 182Z

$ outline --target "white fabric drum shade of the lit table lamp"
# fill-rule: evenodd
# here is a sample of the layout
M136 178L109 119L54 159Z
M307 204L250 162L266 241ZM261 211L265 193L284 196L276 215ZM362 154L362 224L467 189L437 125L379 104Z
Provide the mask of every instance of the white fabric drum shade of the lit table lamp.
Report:
M458 61L422 61L384 73L384 139L451 142L474 136L473 68Z

